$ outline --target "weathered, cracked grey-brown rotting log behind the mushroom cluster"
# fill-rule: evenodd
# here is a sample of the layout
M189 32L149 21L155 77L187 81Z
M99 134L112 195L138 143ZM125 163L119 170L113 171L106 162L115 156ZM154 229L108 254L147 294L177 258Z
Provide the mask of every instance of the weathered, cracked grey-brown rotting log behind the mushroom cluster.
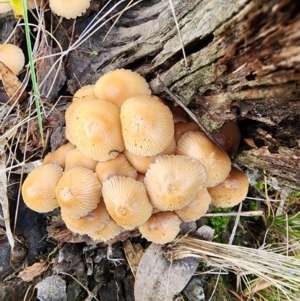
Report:
M238 122L247 142L238 164L264 169L299 189L300 4L172 2L187 66L169 2L143 1L122 15L104 41L108 27L69 55L69 90L95 83L109 70L130 68L146 77L154 94L169 99L157 81L160 74L209 130ZM98 56L88 54L91 47Z

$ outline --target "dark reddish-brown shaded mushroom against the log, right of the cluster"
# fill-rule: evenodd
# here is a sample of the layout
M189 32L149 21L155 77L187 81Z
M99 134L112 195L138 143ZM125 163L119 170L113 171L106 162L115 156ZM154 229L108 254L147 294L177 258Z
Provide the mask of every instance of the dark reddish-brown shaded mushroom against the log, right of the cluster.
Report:
M233 121L226 122L219 131L212 131L212 135L230 157L236 152L241 141L240 129Z

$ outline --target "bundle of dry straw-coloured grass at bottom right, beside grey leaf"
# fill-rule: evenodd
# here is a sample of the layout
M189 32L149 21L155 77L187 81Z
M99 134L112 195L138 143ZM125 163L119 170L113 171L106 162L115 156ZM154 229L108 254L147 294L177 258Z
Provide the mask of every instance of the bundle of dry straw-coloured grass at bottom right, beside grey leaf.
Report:
M286 300L298 300L299 297L296 294L299 291L300 260L271 249L251 249L185 236L169 245L167 256L172 260L202 258L209 266L237 275L255 275L284 294Z

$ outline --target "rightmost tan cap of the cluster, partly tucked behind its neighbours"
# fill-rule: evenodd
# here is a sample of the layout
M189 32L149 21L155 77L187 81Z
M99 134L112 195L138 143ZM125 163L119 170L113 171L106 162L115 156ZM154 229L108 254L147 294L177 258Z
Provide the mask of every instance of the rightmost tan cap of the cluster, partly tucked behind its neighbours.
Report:
M227 208L239 204L248 193L249 181L245 173L232 166L228 177L217 186L208 188L211 205Z

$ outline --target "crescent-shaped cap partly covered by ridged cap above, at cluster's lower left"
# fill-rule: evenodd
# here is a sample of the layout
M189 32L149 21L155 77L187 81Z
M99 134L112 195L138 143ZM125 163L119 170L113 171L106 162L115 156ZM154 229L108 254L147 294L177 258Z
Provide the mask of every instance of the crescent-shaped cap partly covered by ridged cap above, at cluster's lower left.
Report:
M64 211L62 211L61 217L69 230L80 235L89 235L95 231L99 231L109 221L109 214L103 200L100 200L94 210L79 219L68 216Z

